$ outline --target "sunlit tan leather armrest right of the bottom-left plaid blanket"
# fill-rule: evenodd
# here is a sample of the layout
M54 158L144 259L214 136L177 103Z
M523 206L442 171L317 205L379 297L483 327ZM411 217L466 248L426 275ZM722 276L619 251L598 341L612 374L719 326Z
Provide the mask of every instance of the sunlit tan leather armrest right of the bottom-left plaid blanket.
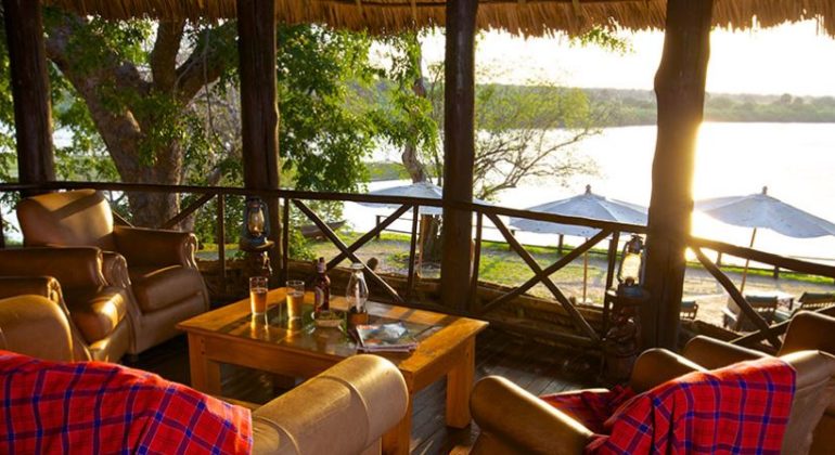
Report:
M362 453L400 421L408 402L391 362L355 355L256 410L253 453Z

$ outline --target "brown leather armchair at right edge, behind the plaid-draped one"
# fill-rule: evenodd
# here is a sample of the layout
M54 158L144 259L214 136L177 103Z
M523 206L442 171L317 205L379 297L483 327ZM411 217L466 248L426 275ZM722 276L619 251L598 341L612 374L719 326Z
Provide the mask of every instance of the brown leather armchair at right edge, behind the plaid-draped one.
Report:
M786 337L778 355L804 350L819 350L835 355L835 317L800 311L788 324ZM757 359L767 354L707 337L693 338L682 352L699 365L719 368L734 362ZM812 454L830 454L835 447L835 396L822 400L827 407L814 427Z

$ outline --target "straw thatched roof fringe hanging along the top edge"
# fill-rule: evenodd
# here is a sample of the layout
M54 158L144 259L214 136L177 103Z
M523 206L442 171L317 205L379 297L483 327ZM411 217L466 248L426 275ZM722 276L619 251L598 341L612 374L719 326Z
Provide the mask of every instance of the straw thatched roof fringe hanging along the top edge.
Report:
M235 0L46 0L80 14L105 18L227 18ZM835 0L715 0L714 23L731 28L769 27L817 20L835 36ZM321 23L337 28L395 32L444 25L442 0L275 0L284 23ZM665 0L481 0L478 26L524 36L571 35L593 25L640 30L664 27Z

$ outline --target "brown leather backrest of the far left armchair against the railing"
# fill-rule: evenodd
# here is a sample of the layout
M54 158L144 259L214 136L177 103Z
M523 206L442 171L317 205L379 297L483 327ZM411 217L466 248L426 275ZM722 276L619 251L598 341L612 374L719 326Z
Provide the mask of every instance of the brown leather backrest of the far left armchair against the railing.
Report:
M75 190L17 204L26 246L97 246L114 250L113 212L101 192Z

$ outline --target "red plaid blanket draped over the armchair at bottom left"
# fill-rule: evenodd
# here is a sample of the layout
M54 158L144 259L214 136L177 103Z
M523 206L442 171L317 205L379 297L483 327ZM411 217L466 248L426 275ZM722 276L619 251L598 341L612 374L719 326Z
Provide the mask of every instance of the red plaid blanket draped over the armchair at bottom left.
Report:
M249 411L157 375L0 351L0 453L244 454Z

